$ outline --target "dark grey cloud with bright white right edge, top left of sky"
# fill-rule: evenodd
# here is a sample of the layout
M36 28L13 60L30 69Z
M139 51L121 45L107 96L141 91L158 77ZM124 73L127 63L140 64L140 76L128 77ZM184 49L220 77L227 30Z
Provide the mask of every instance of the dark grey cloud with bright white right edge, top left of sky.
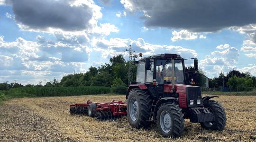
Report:
M91 0L10 0L15 20L25 30L86 30L101 18L100 7Z

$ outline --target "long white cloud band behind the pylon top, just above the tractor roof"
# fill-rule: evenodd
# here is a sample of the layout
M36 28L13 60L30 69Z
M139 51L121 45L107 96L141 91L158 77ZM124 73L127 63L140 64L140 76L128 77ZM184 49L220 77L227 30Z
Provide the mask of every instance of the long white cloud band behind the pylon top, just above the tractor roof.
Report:
M167 50L172 53L181 54L184 58L193 58L197 56L195 50L181 46L150 44L143 38L138 38L137 40L122 38L95 40L93 43L93 47L95 48L93 50L101 52L103 58L109 58L117 54L124 54L124 51L128 49L129 45L132 46L132 50L135 50L137 53L142 52L144 55L155 54L155 51L166 53Z

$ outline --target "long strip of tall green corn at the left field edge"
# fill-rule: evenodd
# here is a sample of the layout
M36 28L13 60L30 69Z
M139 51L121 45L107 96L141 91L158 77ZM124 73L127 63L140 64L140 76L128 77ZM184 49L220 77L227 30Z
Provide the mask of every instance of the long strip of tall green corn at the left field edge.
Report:
M85 87L26 87L11 89L12 95L20 97L50 97L50 96L78 96L110 93L109 87L85 86ZM19 98L17 96L17 98Z

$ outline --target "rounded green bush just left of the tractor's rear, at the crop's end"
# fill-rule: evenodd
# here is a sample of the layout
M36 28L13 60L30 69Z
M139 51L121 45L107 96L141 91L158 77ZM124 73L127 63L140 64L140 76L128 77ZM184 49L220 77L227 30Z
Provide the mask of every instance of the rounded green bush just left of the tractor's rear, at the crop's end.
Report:
M127 87L120 78L116 78L111 85L111 91L118 94L126 94Z

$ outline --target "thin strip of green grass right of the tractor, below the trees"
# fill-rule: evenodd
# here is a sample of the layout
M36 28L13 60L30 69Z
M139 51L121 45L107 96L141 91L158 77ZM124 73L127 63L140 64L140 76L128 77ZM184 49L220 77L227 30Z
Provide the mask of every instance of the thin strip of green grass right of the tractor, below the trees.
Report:
M256 91L242 92L221 92L221 91L203 91L202 94L208 95L235 95L235 96L256 96Z

